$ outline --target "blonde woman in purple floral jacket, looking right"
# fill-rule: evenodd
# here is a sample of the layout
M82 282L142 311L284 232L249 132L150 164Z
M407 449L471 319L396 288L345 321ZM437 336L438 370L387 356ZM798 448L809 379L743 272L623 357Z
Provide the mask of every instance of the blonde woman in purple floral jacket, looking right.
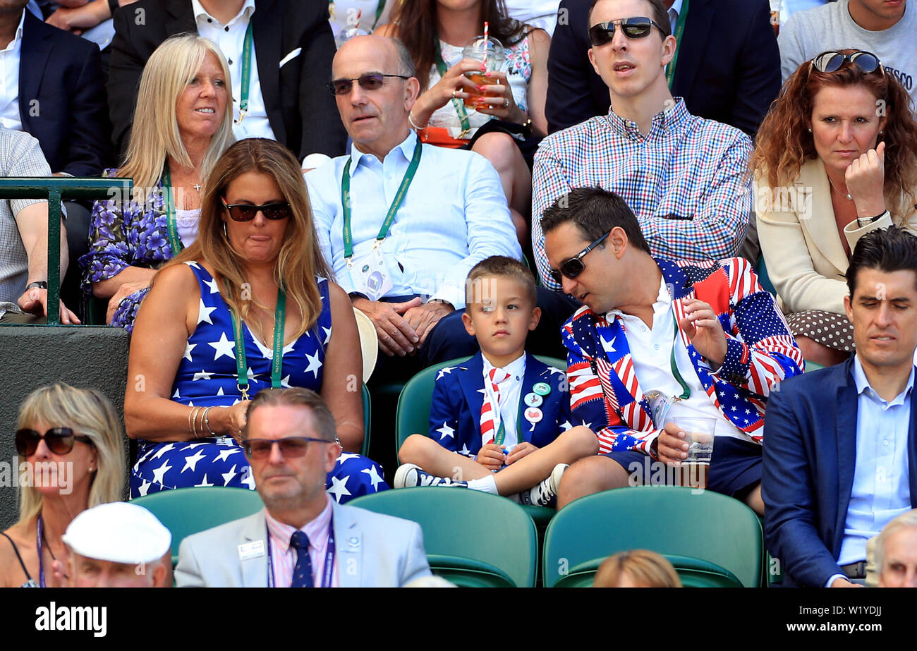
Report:
M133 196L97 201L83 288L108 300L105 321L130 330L149 281L197 232L207 174L233 142L229 69L216 44L165 40L140 78L127 158L105 176L134 180Z

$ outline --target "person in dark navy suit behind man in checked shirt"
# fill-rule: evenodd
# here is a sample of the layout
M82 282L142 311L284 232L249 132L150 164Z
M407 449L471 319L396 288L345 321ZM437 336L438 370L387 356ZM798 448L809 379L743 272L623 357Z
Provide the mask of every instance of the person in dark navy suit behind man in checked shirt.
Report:
M780 90L780 54L768 0L660 1L667 10L687 11L672 95L683 97L693 115L754 137ZM634 16L656 19L649 0L627 2L639 6ZM608 113L608 87L587 54L593 4L563 0L558 8L558 27L547 58L549 133Z

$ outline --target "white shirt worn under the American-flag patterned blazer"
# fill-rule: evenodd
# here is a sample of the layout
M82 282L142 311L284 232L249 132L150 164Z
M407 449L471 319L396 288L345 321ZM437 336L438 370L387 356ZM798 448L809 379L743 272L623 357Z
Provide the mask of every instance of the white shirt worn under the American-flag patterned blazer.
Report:
M669 414L677 412L679 415L688 417L715 418L716 436L731 436L752 442L750 436L720 414L704 390L701 380L697 377L697 371L691 364L688 348L675 332L675 314L672 312L671 297L668 294L665 277L659 281L659 293L656 303L653 303L652 328L646 327L638 316L624 314L620 310L611 310L605 315L609 323L613 322L614 317L624 322L627 346L631 351L640 391L646 393L655 389L662 392L669 400L684 391L671 370L672 345L674 344L675 365L681 374L681 379L691 390L691 396L673 403ZM701 363L704 363L703 360ZM661 428L664 424L655 425Z

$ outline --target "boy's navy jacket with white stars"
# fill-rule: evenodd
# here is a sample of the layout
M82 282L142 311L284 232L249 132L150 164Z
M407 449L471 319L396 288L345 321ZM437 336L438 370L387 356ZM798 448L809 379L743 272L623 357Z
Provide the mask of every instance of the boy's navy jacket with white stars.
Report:
M545 447L570 426L570 394L567 374L547 366L525 353L525 376L520 398L532 392L536 382L545 382L551 392L543 396L539 409L542 419L532 424L523 418L519 424L522 439L535 447ZM430 406L430 437L453 452L473 457L481 450L481 406L484 404L484 359L479 351L459 366L436 374L433 403ZM520 441L521 442L521 441Z

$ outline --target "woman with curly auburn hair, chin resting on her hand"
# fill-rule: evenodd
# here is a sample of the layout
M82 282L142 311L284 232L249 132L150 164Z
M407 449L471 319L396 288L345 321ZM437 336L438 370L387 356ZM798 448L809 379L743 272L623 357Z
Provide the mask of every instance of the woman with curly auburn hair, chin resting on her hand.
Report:
M752 154L761 252L805 359L854 349L845 272L865 233L917 234L917 123L878 58L823 52L784 84Z

